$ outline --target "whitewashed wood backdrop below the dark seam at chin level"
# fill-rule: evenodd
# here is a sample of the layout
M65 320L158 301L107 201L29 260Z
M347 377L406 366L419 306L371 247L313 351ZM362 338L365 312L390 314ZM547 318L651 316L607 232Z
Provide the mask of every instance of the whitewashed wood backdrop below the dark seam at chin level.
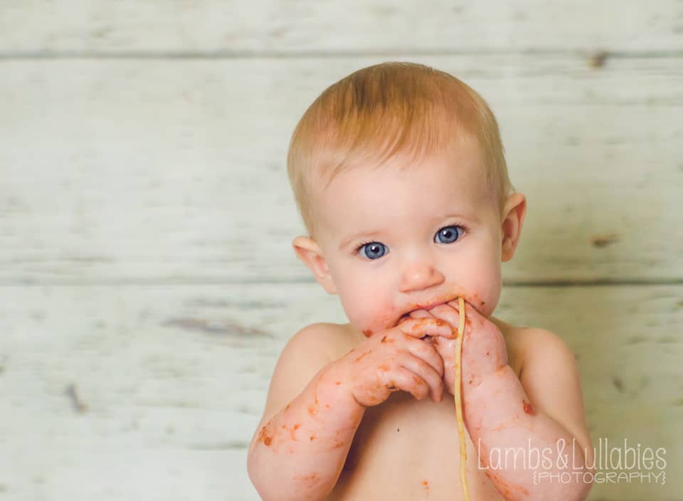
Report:
M495 315L565 339L595 447L667 449L664 486L591 499L676 499L683 288L504 289ZM278 354L313 322L346 322L313 284L0 288L0 493L257 500L246 447Z

